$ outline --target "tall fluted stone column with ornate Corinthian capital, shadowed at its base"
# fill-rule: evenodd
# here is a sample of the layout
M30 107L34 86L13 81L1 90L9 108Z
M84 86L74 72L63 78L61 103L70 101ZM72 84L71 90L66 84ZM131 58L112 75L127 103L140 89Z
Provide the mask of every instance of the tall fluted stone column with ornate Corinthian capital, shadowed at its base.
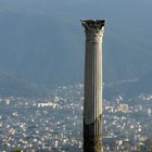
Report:
M81 21L86 33L84 152L102 152L102 37L105 21Z

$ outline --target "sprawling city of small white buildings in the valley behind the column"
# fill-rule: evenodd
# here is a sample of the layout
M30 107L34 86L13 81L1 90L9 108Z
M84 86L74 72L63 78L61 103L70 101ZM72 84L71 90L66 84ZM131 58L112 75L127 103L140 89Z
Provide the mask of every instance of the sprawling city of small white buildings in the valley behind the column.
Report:
M58 87L50 97L0 98L0 152L80 152L83 85ZM103 99L105 152L147 151L152 141L152 94Z

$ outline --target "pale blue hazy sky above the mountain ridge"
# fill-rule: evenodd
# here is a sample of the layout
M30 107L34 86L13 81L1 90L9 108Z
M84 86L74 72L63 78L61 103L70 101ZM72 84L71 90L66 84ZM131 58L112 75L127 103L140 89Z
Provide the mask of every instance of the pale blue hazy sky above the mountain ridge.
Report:
M151 24L151 0L0 0L1 12L51 15L67 20L106 18L124 24Z

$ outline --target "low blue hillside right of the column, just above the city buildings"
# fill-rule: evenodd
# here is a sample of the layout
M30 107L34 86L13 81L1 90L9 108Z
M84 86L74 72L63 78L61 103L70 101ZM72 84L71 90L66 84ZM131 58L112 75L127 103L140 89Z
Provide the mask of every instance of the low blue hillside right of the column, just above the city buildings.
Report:
M124 96L126 98L137 97L141 93L152 94L152 71L147 73L139 80L126 80L122 83L104 86L104 98L112 98L114 96Z

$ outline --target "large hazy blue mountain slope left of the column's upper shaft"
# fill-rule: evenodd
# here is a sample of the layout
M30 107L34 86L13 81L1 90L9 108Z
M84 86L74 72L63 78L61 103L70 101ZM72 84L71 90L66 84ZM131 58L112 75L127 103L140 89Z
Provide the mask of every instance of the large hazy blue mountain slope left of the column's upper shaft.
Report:
M84 51L77 31L51 17L0 14L0 71L47 87L79 81Z

